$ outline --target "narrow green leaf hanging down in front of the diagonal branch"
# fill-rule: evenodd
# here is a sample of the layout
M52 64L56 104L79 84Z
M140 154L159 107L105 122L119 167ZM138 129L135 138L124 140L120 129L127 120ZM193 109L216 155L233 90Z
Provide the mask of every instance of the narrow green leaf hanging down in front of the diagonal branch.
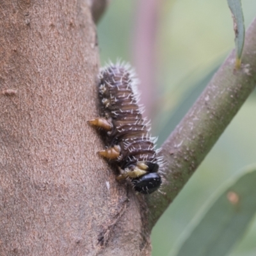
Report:
M241 0L228 0L228 6L232 13L236 43L236 68L241 66L241 56L244 47L244 17Z

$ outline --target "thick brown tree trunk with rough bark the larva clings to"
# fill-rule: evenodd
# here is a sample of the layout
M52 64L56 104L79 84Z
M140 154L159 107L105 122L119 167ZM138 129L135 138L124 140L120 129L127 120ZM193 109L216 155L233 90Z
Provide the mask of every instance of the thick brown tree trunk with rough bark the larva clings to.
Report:
M86 1L1 1L0 255L150 254L143 196L86 123L98 51Z

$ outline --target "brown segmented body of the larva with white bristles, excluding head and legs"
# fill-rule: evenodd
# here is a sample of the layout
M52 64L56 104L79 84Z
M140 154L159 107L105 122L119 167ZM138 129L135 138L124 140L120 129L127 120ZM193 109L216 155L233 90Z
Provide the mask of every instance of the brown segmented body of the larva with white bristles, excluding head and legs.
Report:
M108 143L110 147L120 146L118 165L121 168L140 161L157 162L154 141L148 134L132 83L132 74L122 65L111 65L100 73L102 114L113 124Z

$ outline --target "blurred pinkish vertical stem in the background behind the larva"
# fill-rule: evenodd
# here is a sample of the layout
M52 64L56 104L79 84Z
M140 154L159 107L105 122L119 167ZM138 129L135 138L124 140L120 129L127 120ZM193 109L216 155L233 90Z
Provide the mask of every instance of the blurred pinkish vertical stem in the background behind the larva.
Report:
M134 62L140 77L140 103L145 106L145 116L152 117L156 90L156 33L159 12L158 0L138 1L134 31Z

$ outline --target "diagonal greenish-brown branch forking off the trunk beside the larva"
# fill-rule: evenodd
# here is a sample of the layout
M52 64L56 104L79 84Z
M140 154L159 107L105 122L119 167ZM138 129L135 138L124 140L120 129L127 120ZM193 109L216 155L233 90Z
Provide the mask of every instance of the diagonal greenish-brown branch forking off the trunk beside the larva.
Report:
M148 196L150 228L213 147L256 84L256 19L246 32L243 67L234 72L235 51L163 144L165 183Z

